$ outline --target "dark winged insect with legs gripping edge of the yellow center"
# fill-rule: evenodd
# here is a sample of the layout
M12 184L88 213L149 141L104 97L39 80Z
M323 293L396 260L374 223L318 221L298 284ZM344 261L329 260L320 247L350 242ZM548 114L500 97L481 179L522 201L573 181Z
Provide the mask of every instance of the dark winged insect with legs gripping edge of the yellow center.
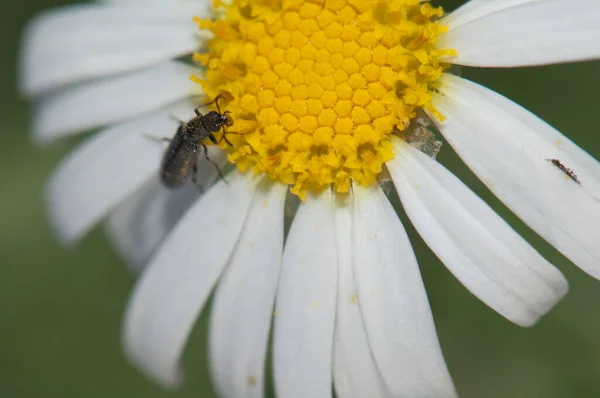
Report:
M175 137L170 140L171 143L165 152L160 169L160 179L166 187L179 188L186 183L190 176L195 180L200 147L204 149L206 160L215 166L219 175L223 178L219 166L208 157L206 144L204 144L204 140L208 138L213 144L219 144L221 140L225 140L231 145L231 142L225 136L228 133L225 127L231 126L233 119L229 116L229 111L221 113L219 100L222 98L222 95L217 95L214 100L194 109L196 116L193 119L188 122L180 122ZM217 107L216 111L210 111L206 115L200 113L200 108L213 103ZM217 141L214 133L219 132L221 129L223 130L223 136L221 140Z

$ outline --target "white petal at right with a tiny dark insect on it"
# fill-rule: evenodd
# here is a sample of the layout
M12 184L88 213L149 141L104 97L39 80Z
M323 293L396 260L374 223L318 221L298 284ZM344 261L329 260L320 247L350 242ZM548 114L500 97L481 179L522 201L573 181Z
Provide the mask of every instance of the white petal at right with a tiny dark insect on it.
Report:
M457 77L441 82L433 102L447 118L434 121L460 157L533 230L600 278L597 162L508 99ZM581 184L549 159L572 168Z

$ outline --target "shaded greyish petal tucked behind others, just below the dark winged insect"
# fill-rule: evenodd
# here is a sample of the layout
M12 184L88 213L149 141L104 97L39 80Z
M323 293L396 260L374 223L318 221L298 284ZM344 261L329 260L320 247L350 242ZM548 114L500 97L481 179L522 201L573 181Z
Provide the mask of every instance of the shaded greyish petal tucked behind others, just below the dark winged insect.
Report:
M208 154L221 169L227 162L225 152L219 148L208 147ZM146 187L115 209L107 222L108 234L132 271L146 265L158 244L217 177L215 167L200 156L195 184L168 189L157 174Z

